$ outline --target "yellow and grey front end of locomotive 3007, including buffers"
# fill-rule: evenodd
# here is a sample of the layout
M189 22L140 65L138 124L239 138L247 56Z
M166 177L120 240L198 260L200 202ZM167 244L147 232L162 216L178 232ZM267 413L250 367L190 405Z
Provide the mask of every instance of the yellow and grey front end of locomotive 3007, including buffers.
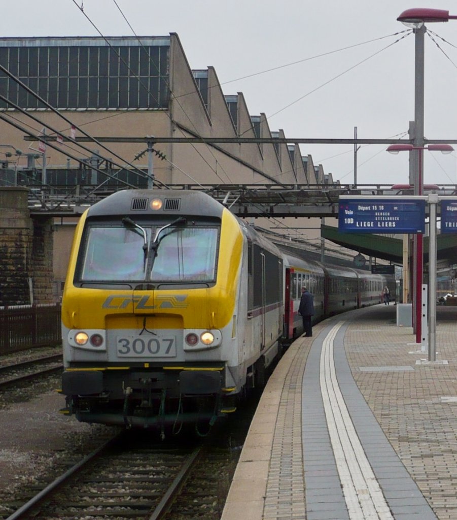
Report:
M62 301L66 413L147 427L229 411L242 254L236 218L204 193L124 190L90 207Z

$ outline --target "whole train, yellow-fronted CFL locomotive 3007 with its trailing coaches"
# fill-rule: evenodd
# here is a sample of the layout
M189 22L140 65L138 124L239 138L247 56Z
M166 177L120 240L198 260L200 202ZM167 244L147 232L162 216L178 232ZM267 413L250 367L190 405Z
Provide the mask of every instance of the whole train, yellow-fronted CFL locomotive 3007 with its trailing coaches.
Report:
M123 190L80 217L62 297L66 414L212 425L318 321L381 302L386 280L281 250L199 191Z

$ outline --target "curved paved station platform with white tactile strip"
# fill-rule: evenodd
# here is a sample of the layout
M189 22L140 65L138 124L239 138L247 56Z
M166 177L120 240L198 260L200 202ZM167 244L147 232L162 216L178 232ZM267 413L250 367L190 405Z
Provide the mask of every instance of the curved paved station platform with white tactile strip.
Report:
M437 354L396 306L330 318L265 387L221 520L457 520L457 307Z

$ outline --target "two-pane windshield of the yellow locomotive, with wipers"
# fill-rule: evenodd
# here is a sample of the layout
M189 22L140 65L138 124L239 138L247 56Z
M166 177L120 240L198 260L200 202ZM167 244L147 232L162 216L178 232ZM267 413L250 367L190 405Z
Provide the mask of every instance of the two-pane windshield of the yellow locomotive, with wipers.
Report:
M216 276L218 229L168 227L156 237L145 263L144 243L151 247L157 231L144 226L145 237L131 227L90 226L81 259L80 280L213 281Z

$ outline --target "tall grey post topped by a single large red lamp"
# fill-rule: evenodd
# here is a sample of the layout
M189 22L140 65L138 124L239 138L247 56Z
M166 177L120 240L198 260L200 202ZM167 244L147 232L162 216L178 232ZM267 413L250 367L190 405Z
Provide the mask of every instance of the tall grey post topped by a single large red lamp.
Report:
M422 159L424 147L424 35L425 23L428 22L447 22L457 19L457 16L449 15L449 11L443 9L412 8L403 11L397 18L407 27L414 29L415 35L415 59L414 59L414 139L410 150L414 150L418 166L414 167L412 184L414 195L422 195ZM432 146L432 145L429 145ZM389 147L390 148L390 147ZM432 148L427 147L429 150ZM400 151L400 150L397 150ZM394 151L395 153L395 151ZM416 343L421 343L421 320L420 311L422 307L422 280L423 280L423 237L415 235L413 237L413 302L415 302L415 331ZM418 290L419 288L419 290Z

